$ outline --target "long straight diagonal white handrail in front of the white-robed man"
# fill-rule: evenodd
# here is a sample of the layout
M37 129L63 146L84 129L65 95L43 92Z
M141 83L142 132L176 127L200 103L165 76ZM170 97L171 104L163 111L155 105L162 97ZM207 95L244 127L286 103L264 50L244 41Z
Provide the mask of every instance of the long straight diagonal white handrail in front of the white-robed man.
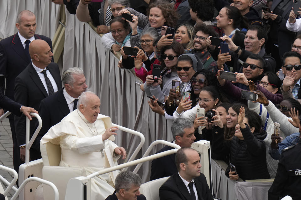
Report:
M151 155L151 156L147 156L147 157L144 157L144 158L133 160L133 161L128 162L128 163L123 163L121 165L117 165L117 166L114 166L114 167L110 167L110 168L100 170L98 172L94 172L94 173L90 174L89 176L87 176L87 178L93 178L95 176L99 176L99 175L102 175L102 174L105 174L105 173L110 173L110 172L113 172L113 171L116 171L116 170L119 170L119 169L122 169L122 168L125 168L125 167L130 167L130 166L133 166L133 165L136 165L136 164L139 164L139 163L143 163L143 162L146 162L146 161L149 161L149 160L153 160L153 159L156 159L156 158L161 158L163 156L167 156L167 155L170 155L170 154L173 154L173 153L177 153L177 151L178 151L178 149L171 149L171 150L164 151L164 152L161 152L161 153L156 153L156 154Z

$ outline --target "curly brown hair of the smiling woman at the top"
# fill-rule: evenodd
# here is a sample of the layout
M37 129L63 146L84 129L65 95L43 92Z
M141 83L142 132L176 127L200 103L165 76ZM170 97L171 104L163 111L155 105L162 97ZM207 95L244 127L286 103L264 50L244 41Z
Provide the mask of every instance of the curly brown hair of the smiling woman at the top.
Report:
M162 15L165 18L165 26L175 28L180 15L172 8L171 4L165 1L156 1L149 5L146 14L150 15L151 8L159 8L162 11Z

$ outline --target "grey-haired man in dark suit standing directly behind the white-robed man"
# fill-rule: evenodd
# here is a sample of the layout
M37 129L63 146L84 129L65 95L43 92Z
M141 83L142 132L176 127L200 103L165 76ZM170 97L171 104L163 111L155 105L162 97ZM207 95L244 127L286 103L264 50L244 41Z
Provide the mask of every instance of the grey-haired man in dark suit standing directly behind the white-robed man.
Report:
M40 152L41 138L52 126L61 122L62 118L77 109L78 98L88 87L82 68L66 69L62 75L62 82L64 88L46 97L40 103L39 115L43 126L32 146L37 152ZM37 128L38 125L39 123L36 122L35 127Z

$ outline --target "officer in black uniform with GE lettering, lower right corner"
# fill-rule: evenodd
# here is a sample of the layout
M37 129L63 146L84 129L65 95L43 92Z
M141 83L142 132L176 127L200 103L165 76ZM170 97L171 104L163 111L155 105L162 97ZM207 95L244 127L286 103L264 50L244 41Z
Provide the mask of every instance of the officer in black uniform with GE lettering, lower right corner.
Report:
M301 133L301 125L299 124ZM301 143L283 149L275 180L268 191L269 200L285 196L301 199Z

